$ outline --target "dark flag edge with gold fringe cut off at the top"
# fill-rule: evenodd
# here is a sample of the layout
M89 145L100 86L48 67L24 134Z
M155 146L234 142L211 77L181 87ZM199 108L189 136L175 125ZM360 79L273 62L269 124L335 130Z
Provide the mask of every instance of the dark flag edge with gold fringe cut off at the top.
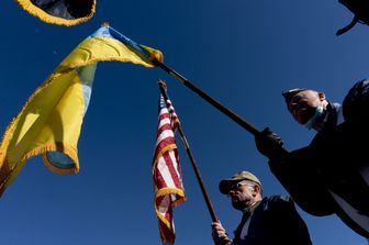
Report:
M92 18L96 0L16 0L23 10L58 25L76 25Z

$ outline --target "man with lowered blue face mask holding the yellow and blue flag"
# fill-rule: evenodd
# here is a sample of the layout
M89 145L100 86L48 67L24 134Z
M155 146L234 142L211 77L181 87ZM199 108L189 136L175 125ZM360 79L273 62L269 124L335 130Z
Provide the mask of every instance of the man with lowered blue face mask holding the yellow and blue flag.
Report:
M369 237L369 80L357 82L342 105L310 89L282 96L293 119L317 133L306 147L288 152L266 127L255 136L258 151L304 211L317 216L336 213Z

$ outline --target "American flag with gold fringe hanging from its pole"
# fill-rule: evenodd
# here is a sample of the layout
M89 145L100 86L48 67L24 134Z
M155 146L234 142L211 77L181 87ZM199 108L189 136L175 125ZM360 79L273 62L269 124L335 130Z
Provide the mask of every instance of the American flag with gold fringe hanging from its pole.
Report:
M176 145L175 131L179 120L170 100L166 102L160 94L158 133L155 147L153 176L155 211L159 222L163 244L175 243L176 232L172 208L186 200L181 168Z

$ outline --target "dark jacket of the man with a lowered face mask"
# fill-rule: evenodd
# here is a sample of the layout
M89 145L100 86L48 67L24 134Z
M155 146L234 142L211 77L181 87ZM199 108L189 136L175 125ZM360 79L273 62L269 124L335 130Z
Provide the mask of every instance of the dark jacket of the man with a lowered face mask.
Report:
M339 124L338 109L328 104L323 129L309 146L270 159L269 166L304 211L313 215L336 213L369 237L369 230L362 229L369 227L369 80L350 89Z

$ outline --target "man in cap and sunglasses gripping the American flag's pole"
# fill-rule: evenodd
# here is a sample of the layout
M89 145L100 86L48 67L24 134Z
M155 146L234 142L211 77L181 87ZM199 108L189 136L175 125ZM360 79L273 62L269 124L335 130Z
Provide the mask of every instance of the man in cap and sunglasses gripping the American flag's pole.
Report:
M262 198L261 182L249 171L221 180L220 191L231 198L234 209L243 212L234 240L221 222L212 223L215 245L311 245L308 227L284 196Z

